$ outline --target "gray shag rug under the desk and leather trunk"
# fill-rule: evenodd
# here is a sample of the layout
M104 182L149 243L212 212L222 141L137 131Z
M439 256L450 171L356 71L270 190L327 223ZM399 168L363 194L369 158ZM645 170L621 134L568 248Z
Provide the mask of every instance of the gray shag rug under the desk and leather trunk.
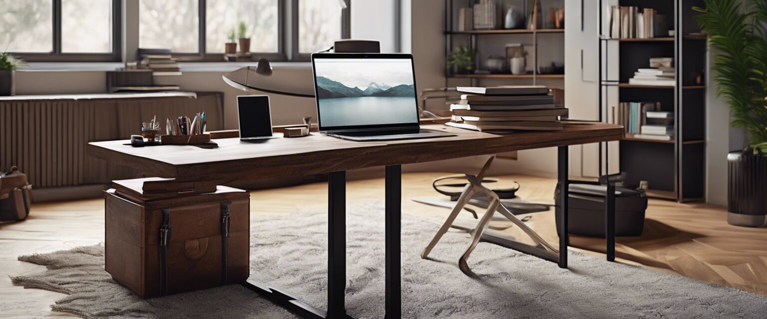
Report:
M466 218L465 216L461 218ZM405 318L644 318L764 317L767 298L679 275L607 262L570 252L570 269L490 243L458 257L469 235L447 233L430 255L420 252L439 227L403 215ZM254 216L251 277L319 308L326 306L327 213ZM295 318L240 285L141 299L104 272L104 247L20 256L48 270L12 278L15 285L68 294L51 305L82 317ZM350 207L347 214L347 312L384 315L384 207Z

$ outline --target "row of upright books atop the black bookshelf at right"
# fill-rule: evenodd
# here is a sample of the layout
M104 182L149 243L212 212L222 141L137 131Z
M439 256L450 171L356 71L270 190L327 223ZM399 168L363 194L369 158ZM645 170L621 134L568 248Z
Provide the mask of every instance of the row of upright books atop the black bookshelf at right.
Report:
M611 38L668 37L669 28L665 15L658 15L653 8L614 5L607 15L607 33Z

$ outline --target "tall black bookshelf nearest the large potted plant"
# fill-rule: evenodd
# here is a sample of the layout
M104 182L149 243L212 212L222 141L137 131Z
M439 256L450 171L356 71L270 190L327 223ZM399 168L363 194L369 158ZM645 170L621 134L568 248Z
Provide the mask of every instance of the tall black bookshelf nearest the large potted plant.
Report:
M654 8L666 15L672 37L609 38L604 24L611 5ZM706 143L706 83L696 77L706 69L706 37L699 34L693 6L703 0L600 0L599 101L601 119L614 121L614 107L622 102L658 101L660 109L673 112L674 137L670 141L637 138L627 134L620 142L618 166L626 172L626 186L648 181L647 196L684 202L703 197ZM673 57L674 86L627 83L639 68L649 67L650 57Z

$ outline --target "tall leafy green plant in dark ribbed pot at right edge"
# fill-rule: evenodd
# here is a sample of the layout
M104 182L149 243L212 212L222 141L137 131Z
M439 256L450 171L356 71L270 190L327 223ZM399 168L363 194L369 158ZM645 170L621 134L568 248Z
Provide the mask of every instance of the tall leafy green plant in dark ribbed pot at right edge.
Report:
M727 156L727 222L762 226L767 215L767 2L706 0L693 8L709 44L719 50L711 69L716 94L729 105L731 125L745 129L746 147Z

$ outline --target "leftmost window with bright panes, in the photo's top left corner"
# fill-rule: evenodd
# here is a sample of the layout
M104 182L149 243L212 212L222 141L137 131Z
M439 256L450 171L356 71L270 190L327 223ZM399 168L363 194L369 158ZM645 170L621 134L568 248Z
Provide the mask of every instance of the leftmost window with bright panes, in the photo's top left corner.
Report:
M0 0L0 8L0 50L28 61L120 60L120 0Z

